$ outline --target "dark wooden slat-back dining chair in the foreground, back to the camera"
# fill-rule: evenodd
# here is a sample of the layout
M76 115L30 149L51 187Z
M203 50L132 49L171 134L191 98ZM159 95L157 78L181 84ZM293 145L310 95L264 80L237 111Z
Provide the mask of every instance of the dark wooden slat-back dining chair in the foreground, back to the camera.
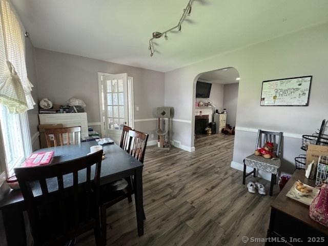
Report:
M96 245L100 245L102 157L103 150L54 165L15 168L34 245L66 245L90 230L94 230Z

